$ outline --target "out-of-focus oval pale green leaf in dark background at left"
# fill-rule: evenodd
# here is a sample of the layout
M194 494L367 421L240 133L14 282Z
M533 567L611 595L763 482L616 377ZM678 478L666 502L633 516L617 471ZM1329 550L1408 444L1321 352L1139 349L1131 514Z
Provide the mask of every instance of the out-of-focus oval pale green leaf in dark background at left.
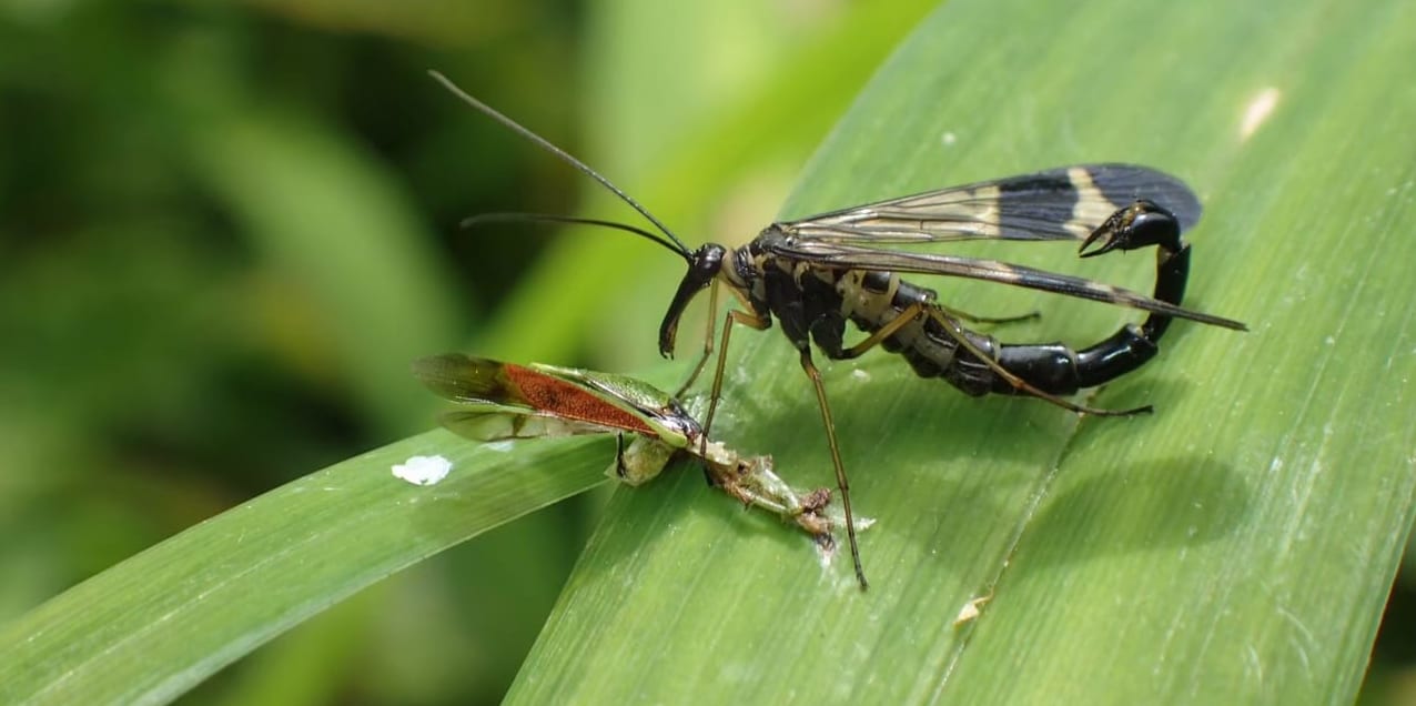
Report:
M300 353L316 370L337 352L333 364L368 413L382 428L406 430L425 396L391 371L446 346L455 315L439 276L447 272L398 189L331 126L286 111L246 106L200 122L191 139L201 179L313 301L313 313L292 318L299 299L282 298L269 308L272 325L285 320L309 339Z

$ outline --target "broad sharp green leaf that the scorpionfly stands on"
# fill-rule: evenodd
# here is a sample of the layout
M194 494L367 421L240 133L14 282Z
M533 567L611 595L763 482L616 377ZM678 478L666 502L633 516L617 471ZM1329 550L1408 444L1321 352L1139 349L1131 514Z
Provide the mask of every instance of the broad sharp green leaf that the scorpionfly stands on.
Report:
M1189 303L1253 332L1177 325L1095 397L1155 404L1131 420L961 398L884 353L831 364L855 508L879 519L862 537L872 588L701 502L692 478L619 492L510 700L1352 700L1416 489L1413 62L1400 1L949 3L784 214L1062 163L1158 166L1208 207ZM1039 248L1104 279L1150 262ZM978 313L1045 308L1005 340L1087 343L1123 316L946 285ZM830 482L780 337L739 332L724 404L722 438Z

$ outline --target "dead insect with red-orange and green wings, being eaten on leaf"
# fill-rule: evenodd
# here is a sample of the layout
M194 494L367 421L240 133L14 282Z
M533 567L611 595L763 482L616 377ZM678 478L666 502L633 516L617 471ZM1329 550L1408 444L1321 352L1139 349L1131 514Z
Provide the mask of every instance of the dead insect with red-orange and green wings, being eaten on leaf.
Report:
M697 456L711 485L796 523L824 551L834 550L831 530L845 522L831 510L830 491L794 491L773 472L772 456L743 455L708 439L674 397L632 377L460 353L421 359L413 363L413 376L463 405L442 415L442 424L462 437L501 441L615 434L617 449L606 475L627 485L657 478L677 456ZM857 520L855 529L869 525Z

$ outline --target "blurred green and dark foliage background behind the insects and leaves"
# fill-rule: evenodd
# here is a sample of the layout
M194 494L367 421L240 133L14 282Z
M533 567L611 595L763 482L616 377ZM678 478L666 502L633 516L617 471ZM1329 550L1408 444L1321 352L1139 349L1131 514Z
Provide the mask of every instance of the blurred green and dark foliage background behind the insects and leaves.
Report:
M0 620L430 427L413 357L656 364L678 261L613 232L459 231L481 211L627 214L428 68L688 242L741 242L929 10L0 3ZM425 561L188 700L494 702L595 513L562 503ZM1409 576L1371 700L1416 695Z

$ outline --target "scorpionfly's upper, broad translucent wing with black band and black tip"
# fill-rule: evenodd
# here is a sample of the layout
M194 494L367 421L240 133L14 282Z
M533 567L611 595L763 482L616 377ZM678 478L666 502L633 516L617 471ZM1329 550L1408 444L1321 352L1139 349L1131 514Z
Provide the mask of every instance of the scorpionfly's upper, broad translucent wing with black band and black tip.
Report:
M1076 164L855 206L779 227L824 242L1080 240L1137 198L1175 214L1182 230L1199 221L1199 198L1180 179L1136 164Z

